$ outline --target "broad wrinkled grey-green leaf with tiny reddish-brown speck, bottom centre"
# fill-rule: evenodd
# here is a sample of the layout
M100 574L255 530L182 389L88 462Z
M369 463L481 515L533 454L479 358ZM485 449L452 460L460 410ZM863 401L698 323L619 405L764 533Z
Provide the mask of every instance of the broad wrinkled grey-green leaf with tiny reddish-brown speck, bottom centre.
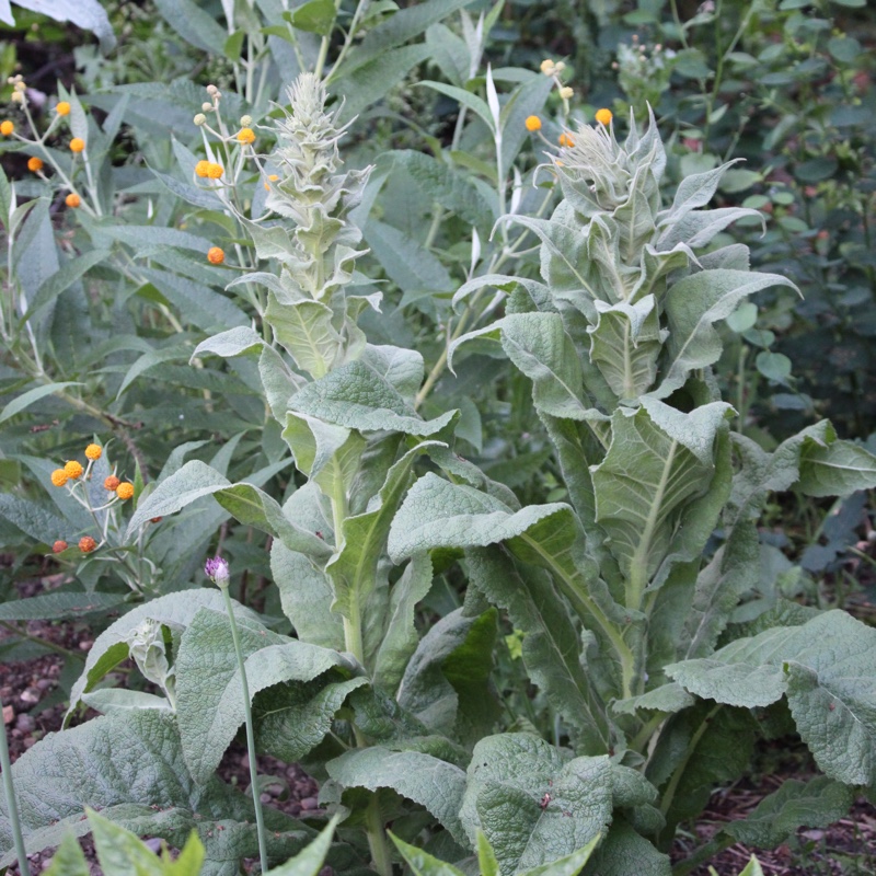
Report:
M503 876L572 854L612 817L608 757L574 758L528 734L482 739L472 752L460 817L482 830Z

